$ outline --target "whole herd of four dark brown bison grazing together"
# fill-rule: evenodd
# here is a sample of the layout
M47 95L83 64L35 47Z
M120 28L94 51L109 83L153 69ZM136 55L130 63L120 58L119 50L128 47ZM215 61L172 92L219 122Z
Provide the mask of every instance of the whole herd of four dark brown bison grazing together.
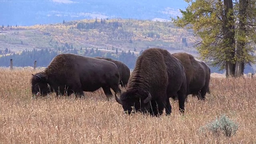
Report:
M124 63L110 58L59 54L43 72L32 74L31 90L33 96L55 92L57 96L81 97L84 91L102 88L110 100L111 88L124 112L159 116L164 109L166 115L171 114L169 98L178 100L182 114L189 94L204 100L210 93L209 82L210 68L205 62L185 52L170 54L161 48L148 48L137 58L132 73Z

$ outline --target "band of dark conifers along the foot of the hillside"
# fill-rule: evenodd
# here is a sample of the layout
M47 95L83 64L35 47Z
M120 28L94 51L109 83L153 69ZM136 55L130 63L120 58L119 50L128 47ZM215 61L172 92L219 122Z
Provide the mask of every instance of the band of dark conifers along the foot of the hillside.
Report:
M141 51L142 52L142 51ZM140 54L141 54L140 52ZM13 59L13 66L17 67L24 67L24 66L34 66L34 61L37 61L36 66L40 67L47 67L50 64L51 60L60 53L72 53L72 54L79 54L82 56L88 57L105 57L105 58L112 58L114 60L119 60L126 64L130 69L133 69L135 66L136 59L138 56L134 55L133 52L126 52L122 51L121 53L116 52L101 52L98 49L85 49L85 50L76 50L70 49L65 51L55 51L50 49L42 49L42 50L23 50L20 54L11 54L11 55L4 55L0 57L0 66L10 66L10 59ZM211 73L224 73L224 70L219 71L218 68L210 67ZM244 73L254 73L254 70L248 64L245 66Z

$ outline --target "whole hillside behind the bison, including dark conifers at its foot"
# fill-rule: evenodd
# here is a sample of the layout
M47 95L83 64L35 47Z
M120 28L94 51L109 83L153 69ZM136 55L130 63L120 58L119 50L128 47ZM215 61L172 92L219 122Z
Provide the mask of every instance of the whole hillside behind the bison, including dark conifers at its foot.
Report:
M47 66L60 53L120 60L133 68L137 56L150 47L187 51L196 40L191 31L170 22L94 19L34 26L2 26L0 66Z

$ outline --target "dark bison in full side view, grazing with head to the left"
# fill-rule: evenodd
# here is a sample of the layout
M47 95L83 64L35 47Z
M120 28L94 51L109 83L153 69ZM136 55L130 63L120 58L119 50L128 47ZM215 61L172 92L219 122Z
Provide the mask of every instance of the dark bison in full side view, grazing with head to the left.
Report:
M58 96L74 93L81 97L83 91L93 92L102 87L109 100L113 96L110 88L115 93L121 92L116 64L97 58L59 54L43 72L32 75L32 94L42 96L55 92Z

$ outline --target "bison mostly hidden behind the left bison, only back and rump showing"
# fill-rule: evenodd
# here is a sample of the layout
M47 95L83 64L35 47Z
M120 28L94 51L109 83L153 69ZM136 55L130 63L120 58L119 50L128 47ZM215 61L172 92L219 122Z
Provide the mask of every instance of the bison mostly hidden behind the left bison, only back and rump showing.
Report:
M113 60L111 58L100 58L100 57L96 57L96 58L108 60L110 62L114 62L116 64L117 68L118 68L118 71L119 71L121 86L122 87L127 86L128 80L130 78L130 69L128 68L128 66L126 66L124 63L122 63L118 60Z

